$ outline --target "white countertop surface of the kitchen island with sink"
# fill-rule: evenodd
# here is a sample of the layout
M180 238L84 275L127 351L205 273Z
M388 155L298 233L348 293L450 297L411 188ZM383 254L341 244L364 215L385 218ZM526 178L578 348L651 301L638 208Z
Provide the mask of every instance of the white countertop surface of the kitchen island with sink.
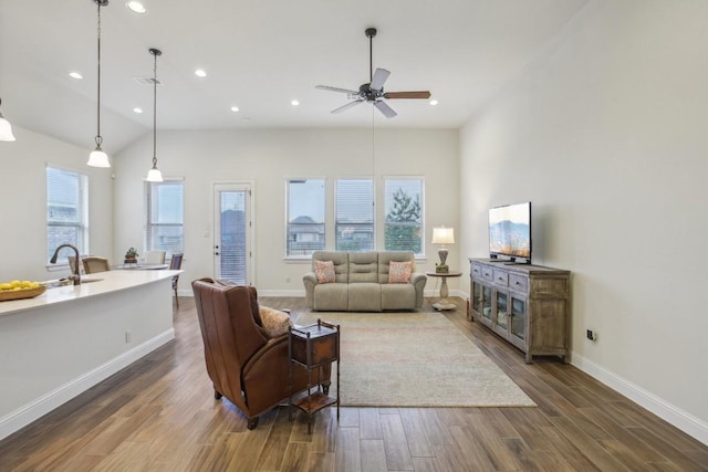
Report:
M0 302L0 316L128 290L138 285L158 282L164 279L171 279L181 272L183 271L170 270L116 270L82 275L81 285L51 287L46 289L43 294L35 296L34 298ZM97 282L88 282L92 280Z

